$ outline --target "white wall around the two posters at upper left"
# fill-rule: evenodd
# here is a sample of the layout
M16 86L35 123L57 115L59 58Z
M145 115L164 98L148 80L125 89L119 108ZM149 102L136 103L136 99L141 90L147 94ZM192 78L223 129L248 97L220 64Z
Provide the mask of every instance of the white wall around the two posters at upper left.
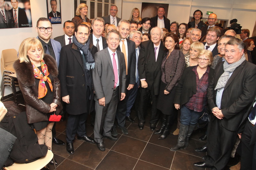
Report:
M53 24L53 33L52 37L57 37L59 35L63 35L63 23L66 20L72 19L72 8L71 8L72 0L62 0L61 1L61 19L62 24ZM47 18L47 8L45 0L30 0L31 5L31 15L32 15L32 24L33 27L29 28L9 28L9 29L1 29L1 45L0 45L0 55L2 56L2 50L14 48L17 51L19 50L20 43L29 37L36 37L36 21L40 17ZM4 40L4 43L3 43ZM0 78L2 79L2 71ZM5 88L4 96L11 94L11 88Z

